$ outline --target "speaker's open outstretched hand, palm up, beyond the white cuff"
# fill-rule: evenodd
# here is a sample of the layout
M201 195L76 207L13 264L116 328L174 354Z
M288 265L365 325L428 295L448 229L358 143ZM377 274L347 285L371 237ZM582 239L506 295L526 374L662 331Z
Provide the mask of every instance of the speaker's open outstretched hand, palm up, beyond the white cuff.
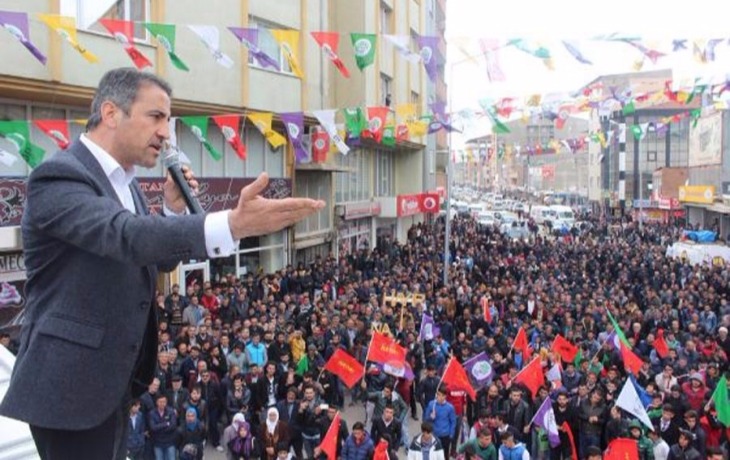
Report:
M324 201L311 198L264 198L261 193L268 184L269 175L263 172L241 189L238 206L228 214L228 225L234 240L277 232L325 206Z

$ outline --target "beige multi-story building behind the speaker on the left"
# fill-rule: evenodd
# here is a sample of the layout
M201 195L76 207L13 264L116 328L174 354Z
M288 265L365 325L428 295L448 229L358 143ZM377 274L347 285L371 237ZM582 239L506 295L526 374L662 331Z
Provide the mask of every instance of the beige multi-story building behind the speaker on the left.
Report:
M319 109L388 103L395 107L413 102L423 112L429 97L424 66L402 59L382 35L407 35L411 37L412 51L417 52L418 36L439 31L442 34L443 3L244 0L211 8L195 0L8 0L0 9L28 14L30 39L47 55L47 62L41 64L12 34L0 29L0 118L84 120L88 116L94 88L104 72L132 65L120 43L99 24L99 18L135 21L133 44L151 62L147 70L167 79L173 87L173 117L268 112L273 113L274 129L285 134L280 117L284 112L303 112L307 132L316 123L311 112ZM98 56L99 62L87 62L61 35L46 27L38 16L44 13L74 16L78 41ZM175 54L189 71L172 65L165 47L151 36L144 22L177 26ZM220 51L230 57L230 68L218 65L210 50L187 27L201 24L217 28ZM230 26L256 29L258 48L273 58L278 70L262 66L254 53L227 30ZM276 42L273 30L299 32L294 51L303 78L295 75L285 56L286 48ZM310 36L314 31L340 33L339 54L351 78L344 78L332 65ZM362 72L355 66L351 32L378 34L376 62ZM443 80L443 66L439 73ZM439 88L438 83L434 85ZM341 113L338 117L337 121L342 122ZM52 155L57 149L55 144L33 123L29 126L31 141ZM183 123L178 121L175 128L178 145L201 178L201 200L207 210L231 206L240 187L262 171L272 178L269 193L273 196L309 196L325 200L328 206L295 228L241 241L239 251L230 258L186 261L180 273L183 278L272 272L288 264L310 261L316 255L337 252L342 241L349 242L347 247L366 243L372 247L378 234L403 238L407 227L423 217L398 211L399 197L435 188L434 151L426 149L426 136L398 142L394 147L364 142L347 156L333 153L326 162L307 164L295 162L290 143L272 148L249 121L241 128L247 146L245 160L227 145L212 121L208 127L207 140L222 154L219 160ZM83 129L83 122L72 122L69 134L74 138ZM2 138L0 147L13 151L12 144ZM12 166L0 165L0 190L4 193L0 197L0 246L11 255L19 255L22 250L18 226L29 172L29 166L20 159ZM138 175L154 203L159 198L163 167L138 170ZM23 276L22 270L16 272L5 279Z

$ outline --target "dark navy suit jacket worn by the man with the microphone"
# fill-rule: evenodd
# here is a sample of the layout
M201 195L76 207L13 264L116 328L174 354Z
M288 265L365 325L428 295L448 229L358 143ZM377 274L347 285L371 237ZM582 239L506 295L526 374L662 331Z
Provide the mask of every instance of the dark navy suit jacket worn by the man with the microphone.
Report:
M132 185L136 214L78 140L30 175L22 220L27 304L0 415L89 429L130 386L140 393L152 380L157 271L207 257L205 216L150 215Z

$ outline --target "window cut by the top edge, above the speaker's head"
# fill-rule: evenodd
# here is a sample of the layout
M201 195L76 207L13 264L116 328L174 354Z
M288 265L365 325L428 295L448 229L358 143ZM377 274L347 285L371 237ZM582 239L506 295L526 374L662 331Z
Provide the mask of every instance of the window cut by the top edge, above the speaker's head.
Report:
M61 14L76 18L76 27L107 34L99 19L134 21L134 38L147 40L142 25L150 18L150 0L61 0Z

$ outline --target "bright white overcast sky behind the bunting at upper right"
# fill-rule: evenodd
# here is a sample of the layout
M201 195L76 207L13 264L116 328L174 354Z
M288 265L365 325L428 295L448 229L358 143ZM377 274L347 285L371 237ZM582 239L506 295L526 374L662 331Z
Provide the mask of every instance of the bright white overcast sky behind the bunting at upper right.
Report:
M646 59L642 71L671 68L674 78L724 77L730 73L730 27L713 0L691 3L657 0L447 0L446 79L452 111L479 110L485 97L527 97L531 94L570 93L601 75L634 72L641 53L625 43L593 40L618 33L640 37L642 43L666 57L656 64ZM514 47L500 50L504 82L490 82L478 40L494 38L501 43L527 39L547 47L554 70L538 58ZM687 39L688 51L671 53L673 39ZM691 54L693 40L725 38L716 48L716 62L700 64ZM572 40L593 65L579 63L561 43ZM475 56L470 59L464 50ZM463 138L487 134L486 122L469 129ZM458 145L456 146L458 147Z

